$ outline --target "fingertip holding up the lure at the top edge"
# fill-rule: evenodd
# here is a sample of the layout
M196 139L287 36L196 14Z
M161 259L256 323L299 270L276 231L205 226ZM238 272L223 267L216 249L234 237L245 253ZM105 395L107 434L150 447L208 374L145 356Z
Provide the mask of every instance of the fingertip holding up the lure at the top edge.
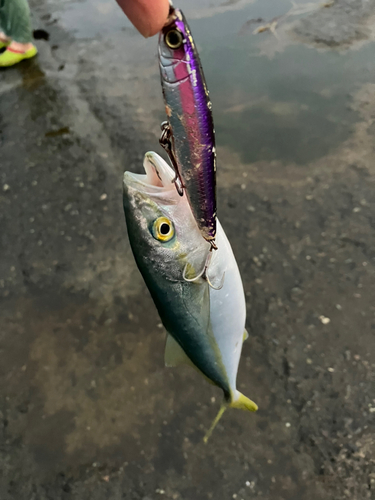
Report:
M168 0L116 0L137 30L144 36L156 35L169 12Z

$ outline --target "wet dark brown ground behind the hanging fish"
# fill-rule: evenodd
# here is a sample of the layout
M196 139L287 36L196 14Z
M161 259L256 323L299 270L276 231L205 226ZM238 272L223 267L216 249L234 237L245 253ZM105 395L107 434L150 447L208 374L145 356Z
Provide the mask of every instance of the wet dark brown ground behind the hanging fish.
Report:
M30 3L50 38L0 72L0 499L375 498L374 2L179 3L259 405L207 445L221 392L164 368L122 209L160 153L156 38L114 0Z

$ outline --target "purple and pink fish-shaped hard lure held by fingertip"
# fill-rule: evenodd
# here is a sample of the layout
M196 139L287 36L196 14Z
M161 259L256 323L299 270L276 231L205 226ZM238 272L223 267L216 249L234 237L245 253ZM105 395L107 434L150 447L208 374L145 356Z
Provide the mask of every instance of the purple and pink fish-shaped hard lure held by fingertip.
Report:
M167 149L203 238L216 236L216 147L212 105L185 16L171 8L159 35L158 57L167 114ZM175 178L176 179L176 178Z

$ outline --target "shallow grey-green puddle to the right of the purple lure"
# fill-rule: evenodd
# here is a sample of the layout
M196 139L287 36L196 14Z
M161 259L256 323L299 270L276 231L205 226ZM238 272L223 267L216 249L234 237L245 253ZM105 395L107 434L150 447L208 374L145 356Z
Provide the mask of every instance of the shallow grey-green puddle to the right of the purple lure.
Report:
M311 2L304 4L311 9ZM290 8L290 2L259 0L242 11L190 23L213 102L217 143L244 163L306 164L326 155L358 121L351 94L374 81L373 43L346 53L293 44L270 58L263 44L266 39L277 47L275 35L253 35L257 25L239 34L246 20L269 21Z

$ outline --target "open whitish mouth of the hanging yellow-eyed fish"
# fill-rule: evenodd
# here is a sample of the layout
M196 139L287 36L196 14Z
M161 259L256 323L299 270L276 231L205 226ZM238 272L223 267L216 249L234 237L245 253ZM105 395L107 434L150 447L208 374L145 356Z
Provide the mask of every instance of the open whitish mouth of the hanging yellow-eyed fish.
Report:
M161 156L149 151L143 160L145 174L124 173L124 187L133 187L139 191L156 193L174 189L174 170Z

